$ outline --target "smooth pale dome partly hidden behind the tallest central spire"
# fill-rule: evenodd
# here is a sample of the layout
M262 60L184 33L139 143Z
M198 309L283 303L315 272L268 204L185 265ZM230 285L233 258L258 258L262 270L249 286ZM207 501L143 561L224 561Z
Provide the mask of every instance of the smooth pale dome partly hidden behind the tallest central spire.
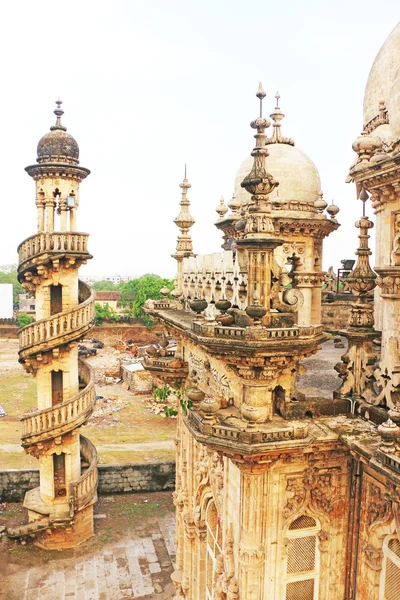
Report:
M279 181L270 198L314 204L321 191L321 180L317 167L307 154L289 144L269 144L268 151L267 171ZM245 203L250 194L240 184L251 171L252 165L253 157L248 156L240 165L235 179L236 197Z

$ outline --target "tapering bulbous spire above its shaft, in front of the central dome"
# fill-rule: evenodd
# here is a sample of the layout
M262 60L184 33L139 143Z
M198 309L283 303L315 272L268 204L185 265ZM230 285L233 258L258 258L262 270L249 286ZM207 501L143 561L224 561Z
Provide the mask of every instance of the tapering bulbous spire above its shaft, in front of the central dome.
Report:
M265 98L264 89L260 86L256 94L260 99L260 115L262 115L262 101ZM271 219L271 202L268 194L270 194L278 184L273 176L267 172L265 168L265 159L269 155L268 149L265 147L265 129L271 125L268 119L262 116L250 123L250 127L256 129L256 147L251 156L254 157L253 167L250 173L243 179L241 186L251 194L252 202L248 206L245 233L250 237L265 237L274 233L274 226Z

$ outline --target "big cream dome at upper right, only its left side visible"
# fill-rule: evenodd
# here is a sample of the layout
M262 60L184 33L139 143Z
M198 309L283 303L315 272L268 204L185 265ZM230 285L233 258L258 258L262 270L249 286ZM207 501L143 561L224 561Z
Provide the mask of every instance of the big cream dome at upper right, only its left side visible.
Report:
M391 88L400 69L400 23L379 50L369 73L364 94L364 125L379 114L379 102L389 108ZM397 108L398 110L398 108ZM389 122L390 112L389 112Z

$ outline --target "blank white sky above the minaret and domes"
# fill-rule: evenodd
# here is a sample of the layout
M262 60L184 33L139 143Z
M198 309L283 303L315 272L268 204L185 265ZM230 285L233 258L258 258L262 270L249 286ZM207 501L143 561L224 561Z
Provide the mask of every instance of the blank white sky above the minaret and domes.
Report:
M78 229L91 234L83 274L175 274L184 163L194 251L220 250L221 194L253 148L258 82L265 111L281 94L284 135L317 165L324 198L341 208L324 268L350 258L361 213L345 184L362 100L398 0L19 0L0 7L0 265L36 232L24 167L55 117L78 141ZM368 213L371 214L369 208Z

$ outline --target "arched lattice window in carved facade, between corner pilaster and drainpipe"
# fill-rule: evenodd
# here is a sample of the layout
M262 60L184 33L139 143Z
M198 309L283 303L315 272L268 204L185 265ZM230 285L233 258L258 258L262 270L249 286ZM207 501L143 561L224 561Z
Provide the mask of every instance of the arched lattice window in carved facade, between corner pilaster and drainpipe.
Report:
M285 600L318 600L319 551L315 519L301 515L289 525Z

